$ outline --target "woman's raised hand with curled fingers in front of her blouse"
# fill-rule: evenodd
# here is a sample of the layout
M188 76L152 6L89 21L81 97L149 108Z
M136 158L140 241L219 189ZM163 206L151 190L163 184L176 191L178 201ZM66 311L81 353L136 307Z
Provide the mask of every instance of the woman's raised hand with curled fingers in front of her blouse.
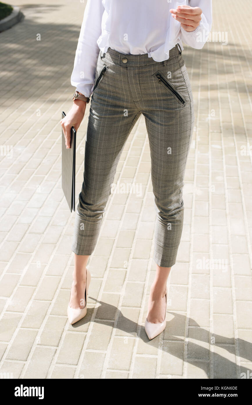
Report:
M201 21L202 9L199 7L178 6L176 10L170 9L172 17L181 23L185 31L194 31Z

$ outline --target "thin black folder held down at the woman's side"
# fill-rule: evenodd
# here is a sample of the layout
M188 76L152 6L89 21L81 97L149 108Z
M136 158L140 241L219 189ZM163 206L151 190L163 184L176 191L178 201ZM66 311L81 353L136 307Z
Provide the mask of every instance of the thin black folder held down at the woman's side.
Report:
M62 111L62 118L66 115ZM75 162L76 162L76 130L71 128L71 148L65 146L65 135L62 128L61 187L67 204L75 211Z

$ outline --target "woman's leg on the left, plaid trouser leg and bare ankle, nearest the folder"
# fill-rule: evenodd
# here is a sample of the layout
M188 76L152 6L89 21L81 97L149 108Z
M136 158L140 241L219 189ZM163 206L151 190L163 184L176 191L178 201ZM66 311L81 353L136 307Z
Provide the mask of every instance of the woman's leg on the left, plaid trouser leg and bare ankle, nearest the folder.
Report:
M80 300L84 300L85 296L86 264L97 243L122 149L140 115L127 93L127 83L120 66L112 65L110 68L109 62L104 62L99 57L96 76L104 63L107 72L92 95L88 117L84 181L79 194L72 244L72 308L85 306L84 301L84 305L80 305ZM116 83L117 86L111 83Z

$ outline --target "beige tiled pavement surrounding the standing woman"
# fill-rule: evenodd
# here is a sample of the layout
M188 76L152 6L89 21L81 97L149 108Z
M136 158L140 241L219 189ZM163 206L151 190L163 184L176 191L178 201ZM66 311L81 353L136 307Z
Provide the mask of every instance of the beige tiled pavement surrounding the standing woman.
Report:
M66 317L74 214L61 190L59 119L71 106L84 5L26 1L25 20L0 33L0 372L240 378L252 371L250 1L237 8L234 0L214 0L212 31L222 32L223 42L227 33L228 44L183 52L196 115L185 226L168 282L167 327L150 342L143 323L155 274L155 213L143 117L115 178L142 193L111 195L89 264L88 314L74 326ZM88 111L78 131L77 195L87 119Z

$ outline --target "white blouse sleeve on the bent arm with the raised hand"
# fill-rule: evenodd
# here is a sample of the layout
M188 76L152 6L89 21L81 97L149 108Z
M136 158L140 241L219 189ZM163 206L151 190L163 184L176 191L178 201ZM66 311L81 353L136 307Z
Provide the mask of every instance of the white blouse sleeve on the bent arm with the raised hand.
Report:
M188 5L202 9L202 20L194 31L181 27L181 39L192 48L202 49L212 28L212 0L189 0Z

